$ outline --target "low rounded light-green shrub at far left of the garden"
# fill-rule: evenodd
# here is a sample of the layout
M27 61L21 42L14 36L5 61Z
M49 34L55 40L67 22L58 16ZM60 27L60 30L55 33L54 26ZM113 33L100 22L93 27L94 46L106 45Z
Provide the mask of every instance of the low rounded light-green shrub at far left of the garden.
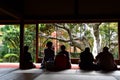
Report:
M4 62L18 62L19 57L17 54L9 53L3 57Z

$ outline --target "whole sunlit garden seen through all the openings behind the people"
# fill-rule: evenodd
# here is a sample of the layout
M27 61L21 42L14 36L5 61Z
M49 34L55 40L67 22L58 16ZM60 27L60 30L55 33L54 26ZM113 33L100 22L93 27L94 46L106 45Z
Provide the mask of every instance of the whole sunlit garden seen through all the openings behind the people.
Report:
M65 45L71 58L79 58L85 47L90 47L94 57L108 46L115 59L118 51L118 23L40 23L38 26L38 57L43 57L47 41L53 42L55 54ZM30 47L36 61L36 25L24 25L24 45ZM19 62L20 25L0 25L0 62Z

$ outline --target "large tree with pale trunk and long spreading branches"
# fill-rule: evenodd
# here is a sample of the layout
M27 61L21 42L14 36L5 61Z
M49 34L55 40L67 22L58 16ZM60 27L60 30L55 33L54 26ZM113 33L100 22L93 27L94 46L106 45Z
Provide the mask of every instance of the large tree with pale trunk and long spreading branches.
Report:
M39 25L41 27L41 25ZM50 33L52 33L55 28L58 33L57 37L53 37L47 34L45 31L51 27ZM117 23L52 23L45 24L44 32L40 32L40 37L46 39L56 39L61 42L68 43L71 46L79 48L81 51L84 50L86 46L91 47L92 52L96 56L104 46L112 47L113 41L118 38L117 36ZM60 30L65 34L60 35ZM106 36L106 37L104 37ZM114 39L113 39L114 38ZM108 42L105 42L107 40ZM118 42L114 45L118 45Z

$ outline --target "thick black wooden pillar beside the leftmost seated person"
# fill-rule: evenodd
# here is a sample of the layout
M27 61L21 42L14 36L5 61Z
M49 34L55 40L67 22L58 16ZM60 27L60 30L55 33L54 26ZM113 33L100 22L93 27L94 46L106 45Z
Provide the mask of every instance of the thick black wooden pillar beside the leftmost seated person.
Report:
M24 69L24 22L20 23L20 69Z

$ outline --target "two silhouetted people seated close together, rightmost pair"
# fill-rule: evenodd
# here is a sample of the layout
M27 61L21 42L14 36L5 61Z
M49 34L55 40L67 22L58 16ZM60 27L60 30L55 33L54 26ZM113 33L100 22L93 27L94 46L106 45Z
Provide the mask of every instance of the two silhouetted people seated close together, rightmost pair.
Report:
M90 48L86 47L85 50L80 54L80 69L83 70L116 70L117 64L114 61L112 53L109 52L108 47L104 47L103 51L93 57L90 52Z

